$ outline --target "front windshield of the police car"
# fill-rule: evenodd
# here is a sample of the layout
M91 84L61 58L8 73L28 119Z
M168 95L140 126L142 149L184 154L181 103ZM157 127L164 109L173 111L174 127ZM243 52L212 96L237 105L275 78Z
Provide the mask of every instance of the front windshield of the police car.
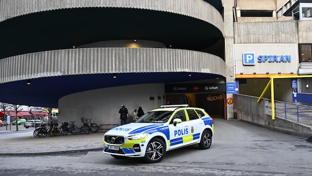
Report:
M165 123L172 113L173 111L151 111L144 114L135 123Z

